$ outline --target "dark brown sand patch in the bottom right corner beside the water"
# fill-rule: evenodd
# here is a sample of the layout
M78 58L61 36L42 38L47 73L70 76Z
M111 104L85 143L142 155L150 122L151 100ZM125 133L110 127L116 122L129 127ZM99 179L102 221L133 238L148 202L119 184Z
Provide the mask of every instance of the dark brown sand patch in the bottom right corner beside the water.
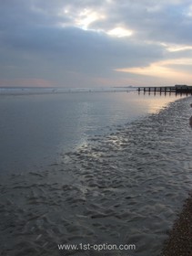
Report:
M181 214L170 231L162 255L192 256L192 194L187 198Z

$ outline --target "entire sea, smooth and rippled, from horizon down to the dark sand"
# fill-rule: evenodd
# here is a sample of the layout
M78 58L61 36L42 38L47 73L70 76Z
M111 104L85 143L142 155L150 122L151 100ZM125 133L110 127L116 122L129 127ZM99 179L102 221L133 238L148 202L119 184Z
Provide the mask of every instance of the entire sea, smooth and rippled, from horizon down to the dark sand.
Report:
M1 88L1 255L160 255L192 189L191 101Z

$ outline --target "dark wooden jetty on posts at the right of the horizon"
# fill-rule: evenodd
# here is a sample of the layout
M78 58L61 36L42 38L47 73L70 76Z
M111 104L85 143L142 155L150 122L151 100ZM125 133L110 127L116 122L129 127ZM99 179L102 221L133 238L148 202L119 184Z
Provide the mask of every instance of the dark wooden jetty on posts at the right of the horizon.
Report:
M156 93L176 93L176 94L190 94L192 95L192 86L187 86L187 85L175 85L175 86L164 86L164 87L138 87L137 89L138 92L144 91L148 92L153 92L154 94Z

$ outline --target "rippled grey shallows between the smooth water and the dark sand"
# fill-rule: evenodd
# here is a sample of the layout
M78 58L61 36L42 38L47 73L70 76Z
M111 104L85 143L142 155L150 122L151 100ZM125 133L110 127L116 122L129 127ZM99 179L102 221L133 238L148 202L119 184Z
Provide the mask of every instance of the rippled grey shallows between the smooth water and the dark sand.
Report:
M91 135L46 169L2 179L2 255L159 255L192 188L190 102ZM69 253L60 243L136 251Z

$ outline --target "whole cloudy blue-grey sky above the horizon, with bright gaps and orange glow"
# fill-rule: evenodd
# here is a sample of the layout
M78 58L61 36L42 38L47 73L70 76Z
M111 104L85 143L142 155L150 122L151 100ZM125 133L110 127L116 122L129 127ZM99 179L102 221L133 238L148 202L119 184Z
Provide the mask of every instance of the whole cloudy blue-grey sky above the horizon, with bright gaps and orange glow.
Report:
M0 0L0 86L192 85L191 0Z

